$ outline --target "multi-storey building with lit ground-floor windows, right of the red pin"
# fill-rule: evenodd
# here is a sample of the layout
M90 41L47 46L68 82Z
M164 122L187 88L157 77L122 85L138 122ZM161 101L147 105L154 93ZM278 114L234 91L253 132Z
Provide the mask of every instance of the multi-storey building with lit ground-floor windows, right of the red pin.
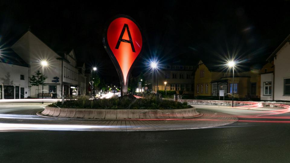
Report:
M147 91L170 90L183 91L183 94L194 93L194 70L192 65L165 65L157 70L144 73L145 87ZM166 84L164 84L166 82ZM157 86L158 85L158 86Z

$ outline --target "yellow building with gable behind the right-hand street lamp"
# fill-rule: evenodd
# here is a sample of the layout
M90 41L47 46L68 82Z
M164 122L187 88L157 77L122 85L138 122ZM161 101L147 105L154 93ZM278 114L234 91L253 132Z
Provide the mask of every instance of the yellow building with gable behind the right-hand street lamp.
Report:
M234 90L232 90L232 71L220 72L216 68L210 69L201 60L195 71L195 96L219 96L219 91L238 98L259 98L259 75L257 71L235 72ZM258 84L258 87L257 87Z

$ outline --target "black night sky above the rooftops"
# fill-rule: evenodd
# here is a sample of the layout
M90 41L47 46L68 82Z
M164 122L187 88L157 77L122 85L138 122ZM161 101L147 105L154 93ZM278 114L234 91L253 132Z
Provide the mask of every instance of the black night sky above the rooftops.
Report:
M83 2L83 1L80 1ZM75 50L87 68L118 82L103 43L104 25L127 14L142 28L143 54L132 74L146 70L146 60L196 65L236 56L247 68L260 68L290 34L289 1L115 1L108 3L0 2L1 48L11 46L28 27L58 53Z

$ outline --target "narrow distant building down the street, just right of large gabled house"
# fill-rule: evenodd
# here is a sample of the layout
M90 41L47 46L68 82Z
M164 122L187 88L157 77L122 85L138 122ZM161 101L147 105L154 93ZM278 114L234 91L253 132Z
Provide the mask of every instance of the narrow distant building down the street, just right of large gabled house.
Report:
M85 76L85 63L78 62L77 67L79 68L79 81L78 81L79 95L85 95L87 83L87 77Z

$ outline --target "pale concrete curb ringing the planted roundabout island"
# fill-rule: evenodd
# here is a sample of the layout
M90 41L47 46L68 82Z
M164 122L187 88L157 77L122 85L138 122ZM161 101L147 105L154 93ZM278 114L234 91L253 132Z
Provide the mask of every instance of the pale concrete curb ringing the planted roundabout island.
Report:
M46 106L37 115L57 119L83 120L152 120L187 119L201 116L195 107L187 109L144 110L144 109L73 109Z

